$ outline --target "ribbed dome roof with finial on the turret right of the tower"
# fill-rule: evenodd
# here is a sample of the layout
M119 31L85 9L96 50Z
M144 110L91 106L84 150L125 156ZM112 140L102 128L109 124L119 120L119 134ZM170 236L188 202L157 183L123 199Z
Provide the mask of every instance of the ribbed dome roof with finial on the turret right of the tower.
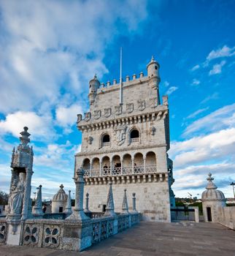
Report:
M220 190L217 190L217 187L212 182L214 178L212 178L212 173L208 174L208 184L207 187L202 194L201 194L201 200L202 201L210 201L210 200L216 200L216 201L225 201L226 197L223 195L223 192Z

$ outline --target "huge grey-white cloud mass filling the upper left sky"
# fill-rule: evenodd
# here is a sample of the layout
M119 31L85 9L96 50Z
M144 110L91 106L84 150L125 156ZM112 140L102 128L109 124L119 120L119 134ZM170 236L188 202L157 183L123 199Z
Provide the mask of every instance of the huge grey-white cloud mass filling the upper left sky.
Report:
M54 107L61 88L79 100L94 73L108 72L103 59L112 39L142 30L147 2L139 7L132 0L1 1L0 112L45 101Z

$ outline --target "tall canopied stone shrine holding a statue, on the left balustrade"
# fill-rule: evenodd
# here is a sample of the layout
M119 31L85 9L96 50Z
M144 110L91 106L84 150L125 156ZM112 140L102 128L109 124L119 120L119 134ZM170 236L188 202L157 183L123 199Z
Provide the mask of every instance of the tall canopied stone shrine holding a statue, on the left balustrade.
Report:
M9 189L7 219L27 219L31 195L31 176L33 174L33 148L30 142L28 127L20 132L20 144L12 151L12 178Z

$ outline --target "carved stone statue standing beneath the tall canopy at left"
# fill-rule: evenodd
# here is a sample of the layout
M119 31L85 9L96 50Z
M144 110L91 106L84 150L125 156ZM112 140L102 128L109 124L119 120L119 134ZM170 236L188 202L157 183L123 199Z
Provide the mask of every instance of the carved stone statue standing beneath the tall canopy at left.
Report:
M21 214L23 206L24 176L25 173L20 173L19 178L13 180L11 193L9 195L10 214Z

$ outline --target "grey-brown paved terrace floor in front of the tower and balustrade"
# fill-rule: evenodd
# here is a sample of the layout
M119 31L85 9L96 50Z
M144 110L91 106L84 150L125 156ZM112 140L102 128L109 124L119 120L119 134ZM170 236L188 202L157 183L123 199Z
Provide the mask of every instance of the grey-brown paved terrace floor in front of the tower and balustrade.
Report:
M4 256L72 255L235 255L235 231L215 223L140 222L83 252L30 246L0 246Z

